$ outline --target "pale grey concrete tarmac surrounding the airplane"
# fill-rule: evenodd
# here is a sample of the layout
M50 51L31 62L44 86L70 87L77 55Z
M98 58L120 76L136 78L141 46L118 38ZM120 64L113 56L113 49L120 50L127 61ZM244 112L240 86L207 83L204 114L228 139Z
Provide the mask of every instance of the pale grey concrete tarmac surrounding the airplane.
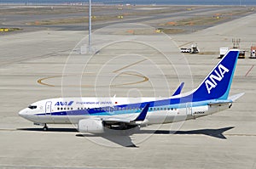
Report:
M137 147L124 147L114 136L81 137L72 125L43 132L18 115L28 104L62 96L166 97L180 82L189 91L232 38L248 50L255 28L256 14L171 38L144 25L114 25L94 32L90 54L81 50L85 31L1 37L0 168L256 168L256 59L249 53L238 60L230 89L245 95L230 110L145 127L128 140ZM200 54L178 52L194 42Z

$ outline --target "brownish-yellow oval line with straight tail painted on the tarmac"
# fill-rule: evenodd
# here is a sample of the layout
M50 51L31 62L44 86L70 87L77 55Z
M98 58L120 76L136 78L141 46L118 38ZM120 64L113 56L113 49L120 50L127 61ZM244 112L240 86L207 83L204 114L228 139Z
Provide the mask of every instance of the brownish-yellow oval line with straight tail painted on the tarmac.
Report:
M137 65L139 63L142 63L143 61L145 61L147 59L142 59L142 60L139 60L135 63L132 63L130 65L125 65L124 67L120 68L119 70L113 70L113 73L116 73L120 70L124 70L128 67L131 67L132 65ZM121 73L120 75L129 75L129 76L137 76L137 77L141 77L143 78L143 80L141 81L138 81L138 82L126 82L126 83L121 83L121 84L113 84L113 85L102 85L102 86L97 86L97 87L121 87L121 86L127 86L127 85L133 85L133 84L138 84L138 83L143 83L143 82L148 82L148 77L147 76L142 76L142 75L139 75L139 74L135 74L135 73ZM79 75L77 75L79 76ZM61 87L61 85L53 85L53 84L49 84L49 83L46 83L44 82L45 80L48 80L48 79L53 79L53 78L57 78L57 77L62 77L62 76L49 76L49 77L44 77L44 78L41 78L41 79L38 79L38 83L41 84L41 85L44 85L44 86L48 86L48 87ZM62 85L63 87L63 85ZM95 87L93 85L66 85L65 87Z

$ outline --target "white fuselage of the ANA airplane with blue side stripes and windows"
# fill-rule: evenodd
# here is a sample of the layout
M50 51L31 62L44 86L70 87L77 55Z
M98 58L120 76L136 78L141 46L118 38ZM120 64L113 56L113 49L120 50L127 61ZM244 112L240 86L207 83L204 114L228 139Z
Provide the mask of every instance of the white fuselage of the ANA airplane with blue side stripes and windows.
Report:
M227 104L210 105L214 100L165 104L171 99L154 98L67 98L45 99L31 104L20 111L20 115L38 124L78 124L80 120L90 118L133 118L143 109L143 103L150 103L143 124L152 125L195 119L226 110Z

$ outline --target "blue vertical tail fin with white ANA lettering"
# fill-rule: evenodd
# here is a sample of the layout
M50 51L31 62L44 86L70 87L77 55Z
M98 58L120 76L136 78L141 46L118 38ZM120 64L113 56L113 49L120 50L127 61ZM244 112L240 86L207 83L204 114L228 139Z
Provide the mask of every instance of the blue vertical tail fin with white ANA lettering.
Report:
M192 93L193 100L228 99L238 55L239 50L230 50Z

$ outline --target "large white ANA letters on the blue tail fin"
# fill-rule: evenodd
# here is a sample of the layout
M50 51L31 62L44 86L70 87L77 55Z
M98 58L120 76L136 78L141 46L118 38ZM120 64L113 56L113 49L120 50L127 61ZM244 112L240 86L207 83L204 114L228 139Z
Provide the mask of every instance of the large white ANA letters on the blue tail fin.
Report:
M205 81L207 92L211 93L212 88L215 88L218 86L218 83L216 81L221 82L222 79L224 78L224 74L229 71L230 70L224 67L224 65L221 65L221 64L218 65L218 69L213 71L215 72L215 75L211 74Z

